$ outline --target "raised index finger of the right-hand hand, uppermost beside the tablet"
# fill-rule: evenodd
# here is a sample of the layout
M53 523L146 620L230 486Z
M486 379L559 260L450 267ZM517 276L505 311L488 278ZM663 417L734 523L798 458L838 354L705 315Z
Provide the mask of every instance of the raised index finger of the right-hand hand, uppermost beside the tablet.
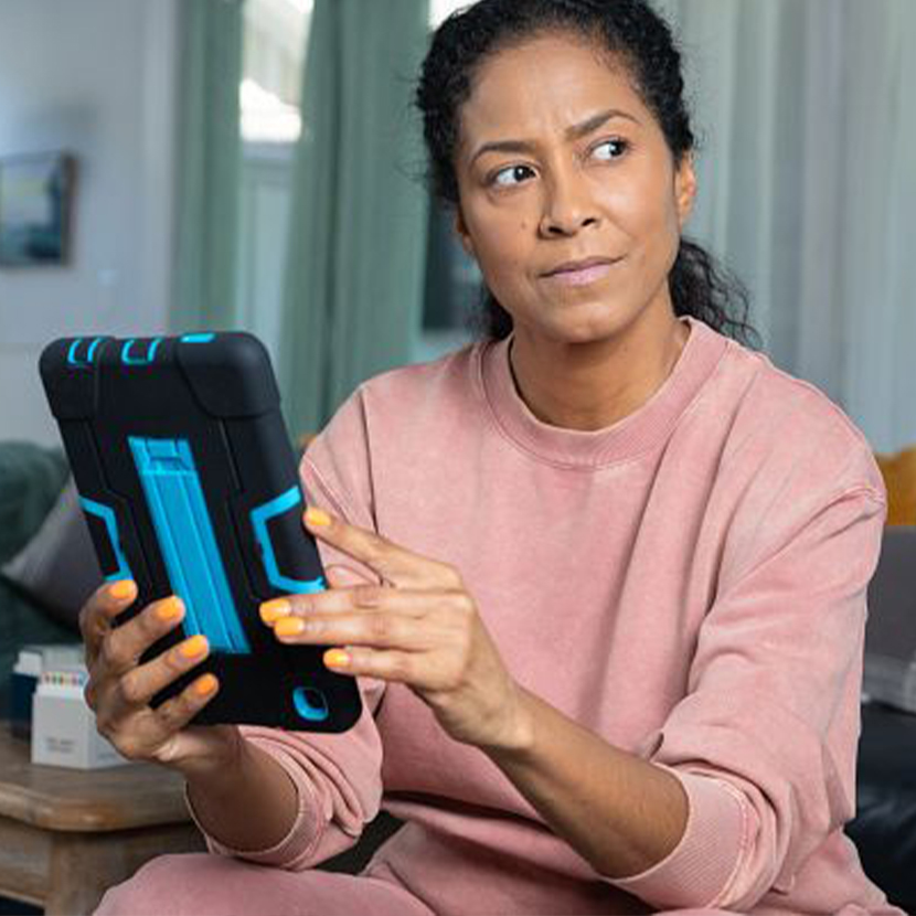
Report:
M456 571L447 564L413 553L374 531L348 524L322 509L309 507L302 518L316 537L361 561L393 585L420 588L434 583L460 583Z

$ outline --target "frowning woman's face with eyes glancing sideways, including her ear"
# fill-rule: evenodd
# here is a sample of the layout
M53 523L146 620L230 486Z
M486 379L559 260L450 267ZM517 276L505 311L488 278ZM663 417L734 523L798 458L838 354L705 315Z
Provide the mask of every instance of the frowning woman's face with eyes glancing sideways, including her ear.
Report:
M584 343L673 320L668 274L690 212L622 67L567 34L497 52L461 108L457 227L516 335Z

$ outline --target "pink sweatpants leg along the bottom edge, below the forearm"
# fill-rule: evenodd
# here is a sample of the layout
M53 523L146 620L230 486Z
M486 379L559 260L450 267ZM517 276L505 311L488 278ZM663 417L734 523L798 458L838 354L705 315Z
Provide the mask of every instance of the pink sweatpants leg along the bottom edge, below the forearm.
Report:
M111 887L95 916L435 916L394 882L286 872L206 853L162 855Z

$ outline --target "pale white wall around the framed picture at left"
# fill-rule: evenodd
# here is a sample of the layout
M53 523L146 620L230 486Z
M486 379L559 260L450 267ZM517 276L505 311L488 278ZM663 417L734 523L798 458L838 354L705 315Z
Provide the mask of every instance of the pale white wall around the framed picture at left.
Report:
M172 273L177 0L0 0L0 156L77 159L72 258L0 267L0 439L58 440L55 337L163 329Z

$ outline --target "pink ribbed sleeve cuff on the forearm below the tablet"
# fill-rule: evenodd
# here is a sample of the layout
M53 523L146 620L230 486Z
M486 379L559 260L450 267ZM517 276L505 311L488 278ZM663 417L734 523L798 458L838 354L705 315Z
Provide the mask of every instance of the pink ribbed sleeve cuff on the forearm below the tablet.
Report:
M247 737L246 741L249 741L263 750L266 750L286 770L286 773L289 774L290 779L292 779L292 782L296 786L296 820L286 837L268 849L234 849L225 843L221 843L206 832L206 829L201 823L196 812L194 811L194 806L191 803L191 797L188 792L187 784L184 787L184 801L188 806L188 811L191 814L192 820L203 834L206 848L210 852L216 853L217 855L232 855L238 859L246 859L249 862L256 862L262 865L284 867L297 860L306 858L310 850L317 844L321 834L321 826L318 823L318 812L320 810L320 806L318 805L315 791L309 785L308 779L302 774L301 768L296 765L292 758L281 747L278 747L269 739Z

